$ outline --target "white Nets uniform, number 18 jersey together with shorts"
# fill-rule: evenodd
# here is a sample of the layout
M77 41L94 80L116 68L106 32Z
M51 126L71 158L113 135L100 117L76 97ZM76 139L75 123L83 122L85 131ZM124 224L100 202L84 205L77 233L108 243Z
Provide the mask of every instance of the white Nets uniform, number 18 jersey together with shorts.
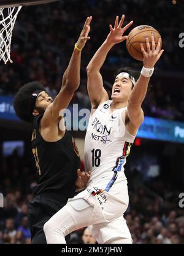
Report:
M78 213L75 223L80 213L84 225L88 223L98 243L116 237L131 241L123 217L129 203L124 166L135 136L129 134L125 127L127 108L112 111L111 103L108 100L99 105L89 119L85 137L85 169L91 170L91 177L85 190L67 203L71 206L67 209L71 215L73 210Z

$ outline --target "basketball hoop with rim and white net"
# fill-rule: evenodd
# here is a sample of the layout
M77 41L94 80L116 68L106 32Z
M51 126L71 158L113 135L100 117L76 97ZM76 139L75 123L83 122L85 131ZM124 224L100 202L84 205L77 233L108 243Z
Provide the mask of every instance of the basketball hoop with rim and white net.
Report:
M10 47L12 31L22 6L45 4L58 0L0 0L0 61L12 63Z

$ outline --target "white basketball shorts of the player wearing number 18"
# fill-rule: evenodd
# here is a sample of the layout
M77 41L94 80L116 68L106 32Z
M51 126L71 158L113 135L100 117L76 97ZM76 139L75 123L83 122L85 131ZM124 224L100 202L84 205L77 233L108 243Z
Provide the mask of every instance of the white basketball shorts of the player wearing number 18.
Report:
M69 199L67 204L78 212L81 211L81 215L82 210L93 207L87 223L91 233L99 243L104 243L112 238L131 239L126 220L123 217L128 207L126 180L115 183L109 192L104 191L103 184L88 186L77 196Z

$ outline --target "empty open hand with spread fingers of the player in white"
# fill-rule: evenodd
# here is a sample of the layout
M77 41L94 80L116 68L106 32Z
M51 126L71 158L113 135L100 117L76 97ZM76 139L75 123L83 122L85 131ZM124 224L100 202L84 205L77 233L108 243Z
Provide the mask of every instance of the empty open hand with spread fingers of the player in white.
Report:
M133 21L129 22L124 28L121 28L123 25L123 22L125 20L125 15L123 14L121 17L120 22L118 23L119 17L117 16L115 19L114 27L112 25L109 25L110 33L107 36L107 41L111 44L118 44L118 42L123 42L128 38L128 36L123 36L126 30L132 25Z

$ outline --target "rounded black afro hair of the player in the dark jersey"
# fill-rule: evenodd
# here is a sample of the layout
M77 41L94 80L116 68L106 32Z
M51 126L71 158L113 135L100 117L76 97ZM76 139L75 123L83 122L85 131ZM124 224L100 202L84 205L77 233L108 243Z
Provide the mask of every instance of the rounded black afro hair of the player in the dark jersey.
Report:
M21 87L13 100L13 108L18 118L25 122L33 122L33 111L35 109L36 99L33 97L37 90L45 90L44 86L38 82L28 82Z

